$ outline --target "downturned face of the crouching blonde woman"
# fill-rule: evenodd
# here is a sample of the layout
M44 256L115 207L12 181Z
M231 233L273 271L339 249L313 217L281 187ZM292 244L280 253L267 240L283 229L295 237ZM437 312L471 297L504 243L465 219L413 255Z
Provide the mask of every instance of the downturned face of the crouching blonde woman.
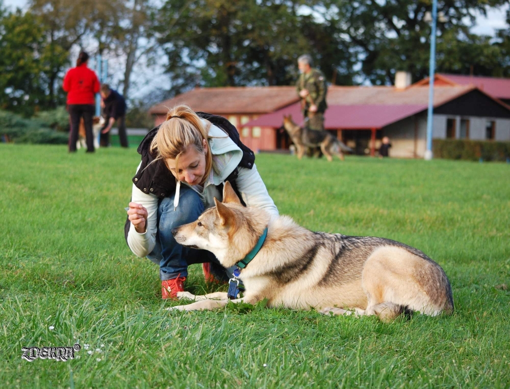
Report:
M193 146L188 147L179 157L179 166L175 166L175 159L166 160L168 169L177 180L185 181L190 185L202 182L203 175L206 174L206 154L208 153L206 140L202 140L202 147L203 153L198 152Z

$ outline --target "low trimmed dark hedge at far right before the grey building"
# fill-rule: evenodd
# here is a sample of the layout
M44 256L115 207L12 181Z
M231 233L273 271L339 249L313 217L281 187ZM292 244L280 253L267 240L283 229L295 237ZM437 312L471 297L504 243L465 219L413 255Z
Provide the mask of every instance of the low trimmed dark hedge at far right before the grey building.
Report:
M435 158L505 161L510 157L510 142L434 139L432 151Z

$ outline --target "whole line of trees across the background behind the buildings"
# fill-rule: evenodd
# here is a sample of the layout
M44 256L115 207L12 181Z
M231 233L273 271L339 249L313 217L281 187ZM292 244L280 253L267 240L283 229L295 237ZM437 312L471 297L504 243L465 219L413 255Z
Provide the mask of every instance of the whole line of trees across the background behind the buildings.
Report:
M510 29L470 33L475 12L505 4L439 1L438 72L510 76ZM90 54L122 59L128 99L139 63L164 66L171 80L147 101L197 86L290 85L302 53L331 84L388 85L398 70L418 80L428 74L427 11L431 0L30 0L25 11L0 0L0 108L64 104L71 48L91 42Z

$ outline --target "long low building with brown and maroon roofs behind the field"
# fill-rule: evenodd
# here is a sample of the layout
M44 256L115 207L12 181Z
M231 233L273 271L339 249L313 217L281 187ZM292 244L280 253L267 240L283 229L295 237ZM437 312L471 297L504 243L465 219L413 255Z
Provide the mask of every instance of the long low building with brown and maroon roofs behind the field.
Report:
M510 106L500 100L506 96L504 91L487 81L480 85L462 80L436 75L433 138L510 141ZM326 98L325 128L336 131L356 154L373 155L382 136L388 136L391 156L423 157L428 79L399 88L330 86ZM181 103L224 116L237 126L241 140L253 150L289 147L287 134L278 130L284 115L303 123L296 90L291 86L195 89L152 107L156 124L165 120L167 107Z

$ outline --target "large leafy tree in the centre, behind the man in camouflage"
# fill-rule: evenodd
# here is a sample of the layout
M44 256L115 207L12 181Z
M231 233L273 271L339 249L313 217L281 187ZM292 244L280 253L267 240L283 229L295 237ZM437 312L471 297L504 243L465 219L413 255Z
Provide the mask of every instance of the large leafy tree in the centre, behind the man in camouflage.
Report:
M314 2L308 2L314 3ZM159 41L172 89L288 85L297 57L309 52L330 79L352 82L354 57L335 25L299 11L302 2L168 1L159 12ZM343 79L342 76L347 75Z

